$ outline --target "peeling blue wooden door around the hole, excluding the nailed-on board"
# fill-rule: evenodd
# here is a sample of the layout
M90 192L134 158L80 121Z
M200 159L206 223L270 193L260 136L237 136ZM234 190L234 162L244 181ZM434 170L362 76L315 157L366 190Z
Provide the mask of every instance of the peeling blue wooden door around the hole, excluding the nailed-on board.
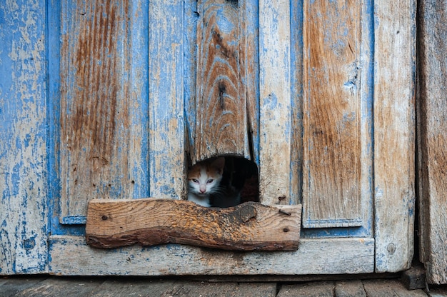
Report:
M408 268L413 1L79 0L48 10L46 271ZM86 245L91 198L183 198L187 156L227 153L257 163L261 203L303 203L298 251Z

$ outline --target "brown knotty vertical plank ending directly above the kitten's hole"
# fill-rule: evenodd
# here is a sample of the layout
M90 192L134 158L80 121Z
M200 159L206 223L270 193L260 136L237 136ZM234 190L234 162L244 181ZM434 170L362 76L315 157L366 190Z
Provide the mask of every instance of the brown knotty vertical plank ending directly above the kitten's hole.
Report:
M213 156L249 156L243 7L238 1L199 1L196 129L193 163Z

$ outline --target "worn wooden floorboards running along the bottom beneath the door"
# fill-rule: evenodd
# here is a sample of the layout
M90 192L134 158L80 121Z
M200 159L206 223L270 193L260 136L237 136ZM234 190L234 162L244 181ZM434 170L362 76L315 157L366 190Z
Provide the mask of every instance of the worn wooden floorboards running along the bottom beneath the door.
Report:
M228 297L438 297L447 286L407 290L400 278L338 281L208 281L188 278L10 276L0 278L0 296L228 296ZM242 279L243 280L243 279ZM261 280L261 278L260 278Z

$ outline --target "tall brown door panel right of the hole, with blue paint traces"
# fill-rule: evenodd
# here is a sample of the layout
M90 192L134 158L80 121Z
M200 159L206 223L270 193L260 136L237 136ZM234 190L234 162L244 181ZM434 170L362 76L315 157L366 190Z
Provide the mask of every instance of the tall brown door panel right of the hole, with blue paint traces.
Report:
M361 226L363 4L303 3L303 226Z

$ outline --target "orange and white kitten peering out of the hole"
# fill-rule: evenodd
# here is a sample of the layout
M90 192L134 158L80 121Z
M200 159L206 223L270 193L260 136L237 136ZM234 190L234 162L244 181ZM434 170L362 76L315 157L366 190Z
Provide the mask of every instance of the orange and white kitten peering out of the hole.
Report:
M188 200L201 206L211 206L211 194L222 191L225 158L196 163L188 172Z

